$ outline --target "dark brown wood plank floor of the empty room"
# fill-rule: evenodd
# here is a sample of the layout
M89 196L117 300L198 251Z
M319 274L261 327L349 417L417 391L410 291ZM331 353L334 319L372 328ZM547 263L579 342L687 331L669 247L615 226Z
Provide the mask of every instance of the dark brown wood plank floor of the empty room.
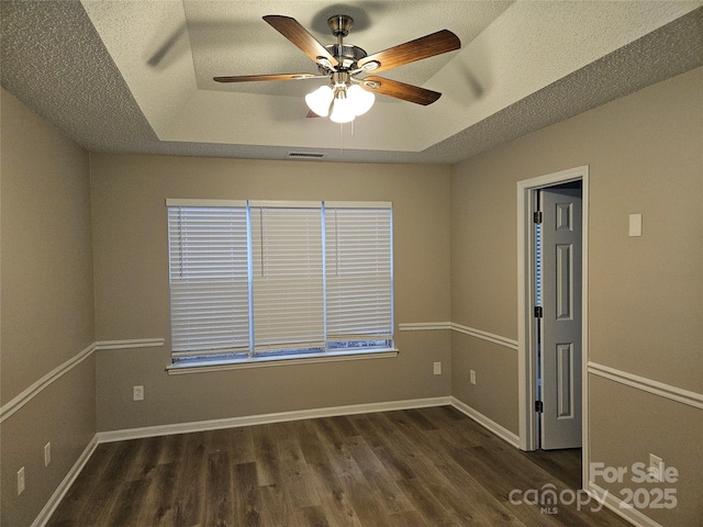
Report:
M574 495L578 451L522 452L443 406L103 444L48 527L628 525L524 503L550 485Z

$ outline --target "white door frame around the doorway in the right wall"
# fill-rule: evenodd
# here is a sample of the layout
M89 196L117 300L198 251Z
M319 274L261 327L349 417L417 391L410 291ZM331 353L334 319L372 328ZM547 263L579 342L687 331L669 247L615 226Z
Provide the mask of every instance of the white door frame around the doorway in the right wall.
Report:
M582 408L582 466L583 481L588 481L588 264L589 264L589 166L570 168L517 182L517 391L518 434L521 450L535 450L538 445L537 415L534 404L537 397L537 365L534 335L533 298L534 229L533 212L536 192L546 187L581 181L582 191L582 273L581 273L581 408Z

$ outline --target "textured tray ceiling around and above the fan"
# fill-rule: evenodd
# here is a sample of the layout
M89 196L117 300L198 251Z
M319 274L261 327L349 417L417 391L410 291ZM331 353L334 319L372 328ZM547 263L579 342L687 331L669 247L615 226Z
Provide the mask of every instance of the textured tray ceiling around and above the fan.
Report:
M703 2L7 1L2 86L93 152L330 161L457 162L703 65ZM443 92L379 96L354 126L305 119L317 81L219 85L215 75L314 72L266 24L323 44L332 14L369 54L449 29L458 52L384 71Z

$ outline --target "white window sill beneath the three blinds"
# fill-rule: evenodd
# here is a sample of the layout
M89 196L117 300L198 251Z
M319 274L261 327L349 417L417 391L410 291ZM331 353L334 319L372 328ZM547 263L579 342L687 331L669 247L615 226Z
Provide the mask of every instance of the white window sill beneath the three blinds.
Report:
M327 351L315 355L289 355L278 357L259 357L234 359L226 361L201 361L188 365L168 365L166 371L169 375L183 373L204 373L211 371L242 370L246 368L267 368L272 366L312 365L317 362L339 362L343 360L386 359L397 357L398 349L365 350L365 351Z

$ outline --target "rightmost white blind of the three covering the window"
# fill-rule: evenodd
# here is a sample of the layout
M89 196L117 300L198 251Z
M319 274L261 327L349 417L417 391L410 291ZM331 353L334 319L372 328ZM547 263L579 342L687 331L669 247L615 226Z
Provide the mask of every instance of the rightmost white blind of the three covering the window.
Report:
M392 217L390 204L325 203L327 340L390 340Z

